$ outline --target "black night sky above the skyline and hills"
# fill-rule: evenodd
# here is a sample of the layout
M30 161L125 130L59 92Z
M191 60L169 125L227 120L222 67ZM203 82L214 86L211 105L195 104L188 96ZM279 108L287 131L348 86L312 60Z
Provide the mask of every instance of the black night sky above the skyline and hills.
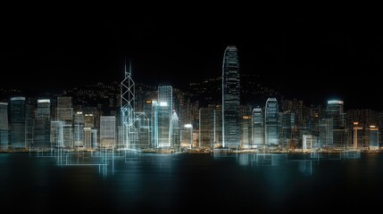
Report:
M103 15L28 13L3 19L2 86L45 91L121 81L184 87L221 76L227 45L241 72L267 77L290 98L382 109L382 33L371 21L284 19L246 12ZM241 79L246 81L246 79Z

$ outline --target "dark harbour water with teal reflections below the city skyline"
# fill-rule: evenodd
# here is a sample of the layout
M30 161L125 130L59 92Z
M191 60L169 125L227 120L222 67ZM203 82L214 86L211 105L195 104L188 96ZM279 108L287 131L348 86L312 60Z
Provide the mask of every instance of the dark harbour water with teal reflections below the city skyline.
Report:
M2 210L343 213L377 209L383 199L382 154L139 154L109 161L104 169L57 162L27 153L0 154Z

